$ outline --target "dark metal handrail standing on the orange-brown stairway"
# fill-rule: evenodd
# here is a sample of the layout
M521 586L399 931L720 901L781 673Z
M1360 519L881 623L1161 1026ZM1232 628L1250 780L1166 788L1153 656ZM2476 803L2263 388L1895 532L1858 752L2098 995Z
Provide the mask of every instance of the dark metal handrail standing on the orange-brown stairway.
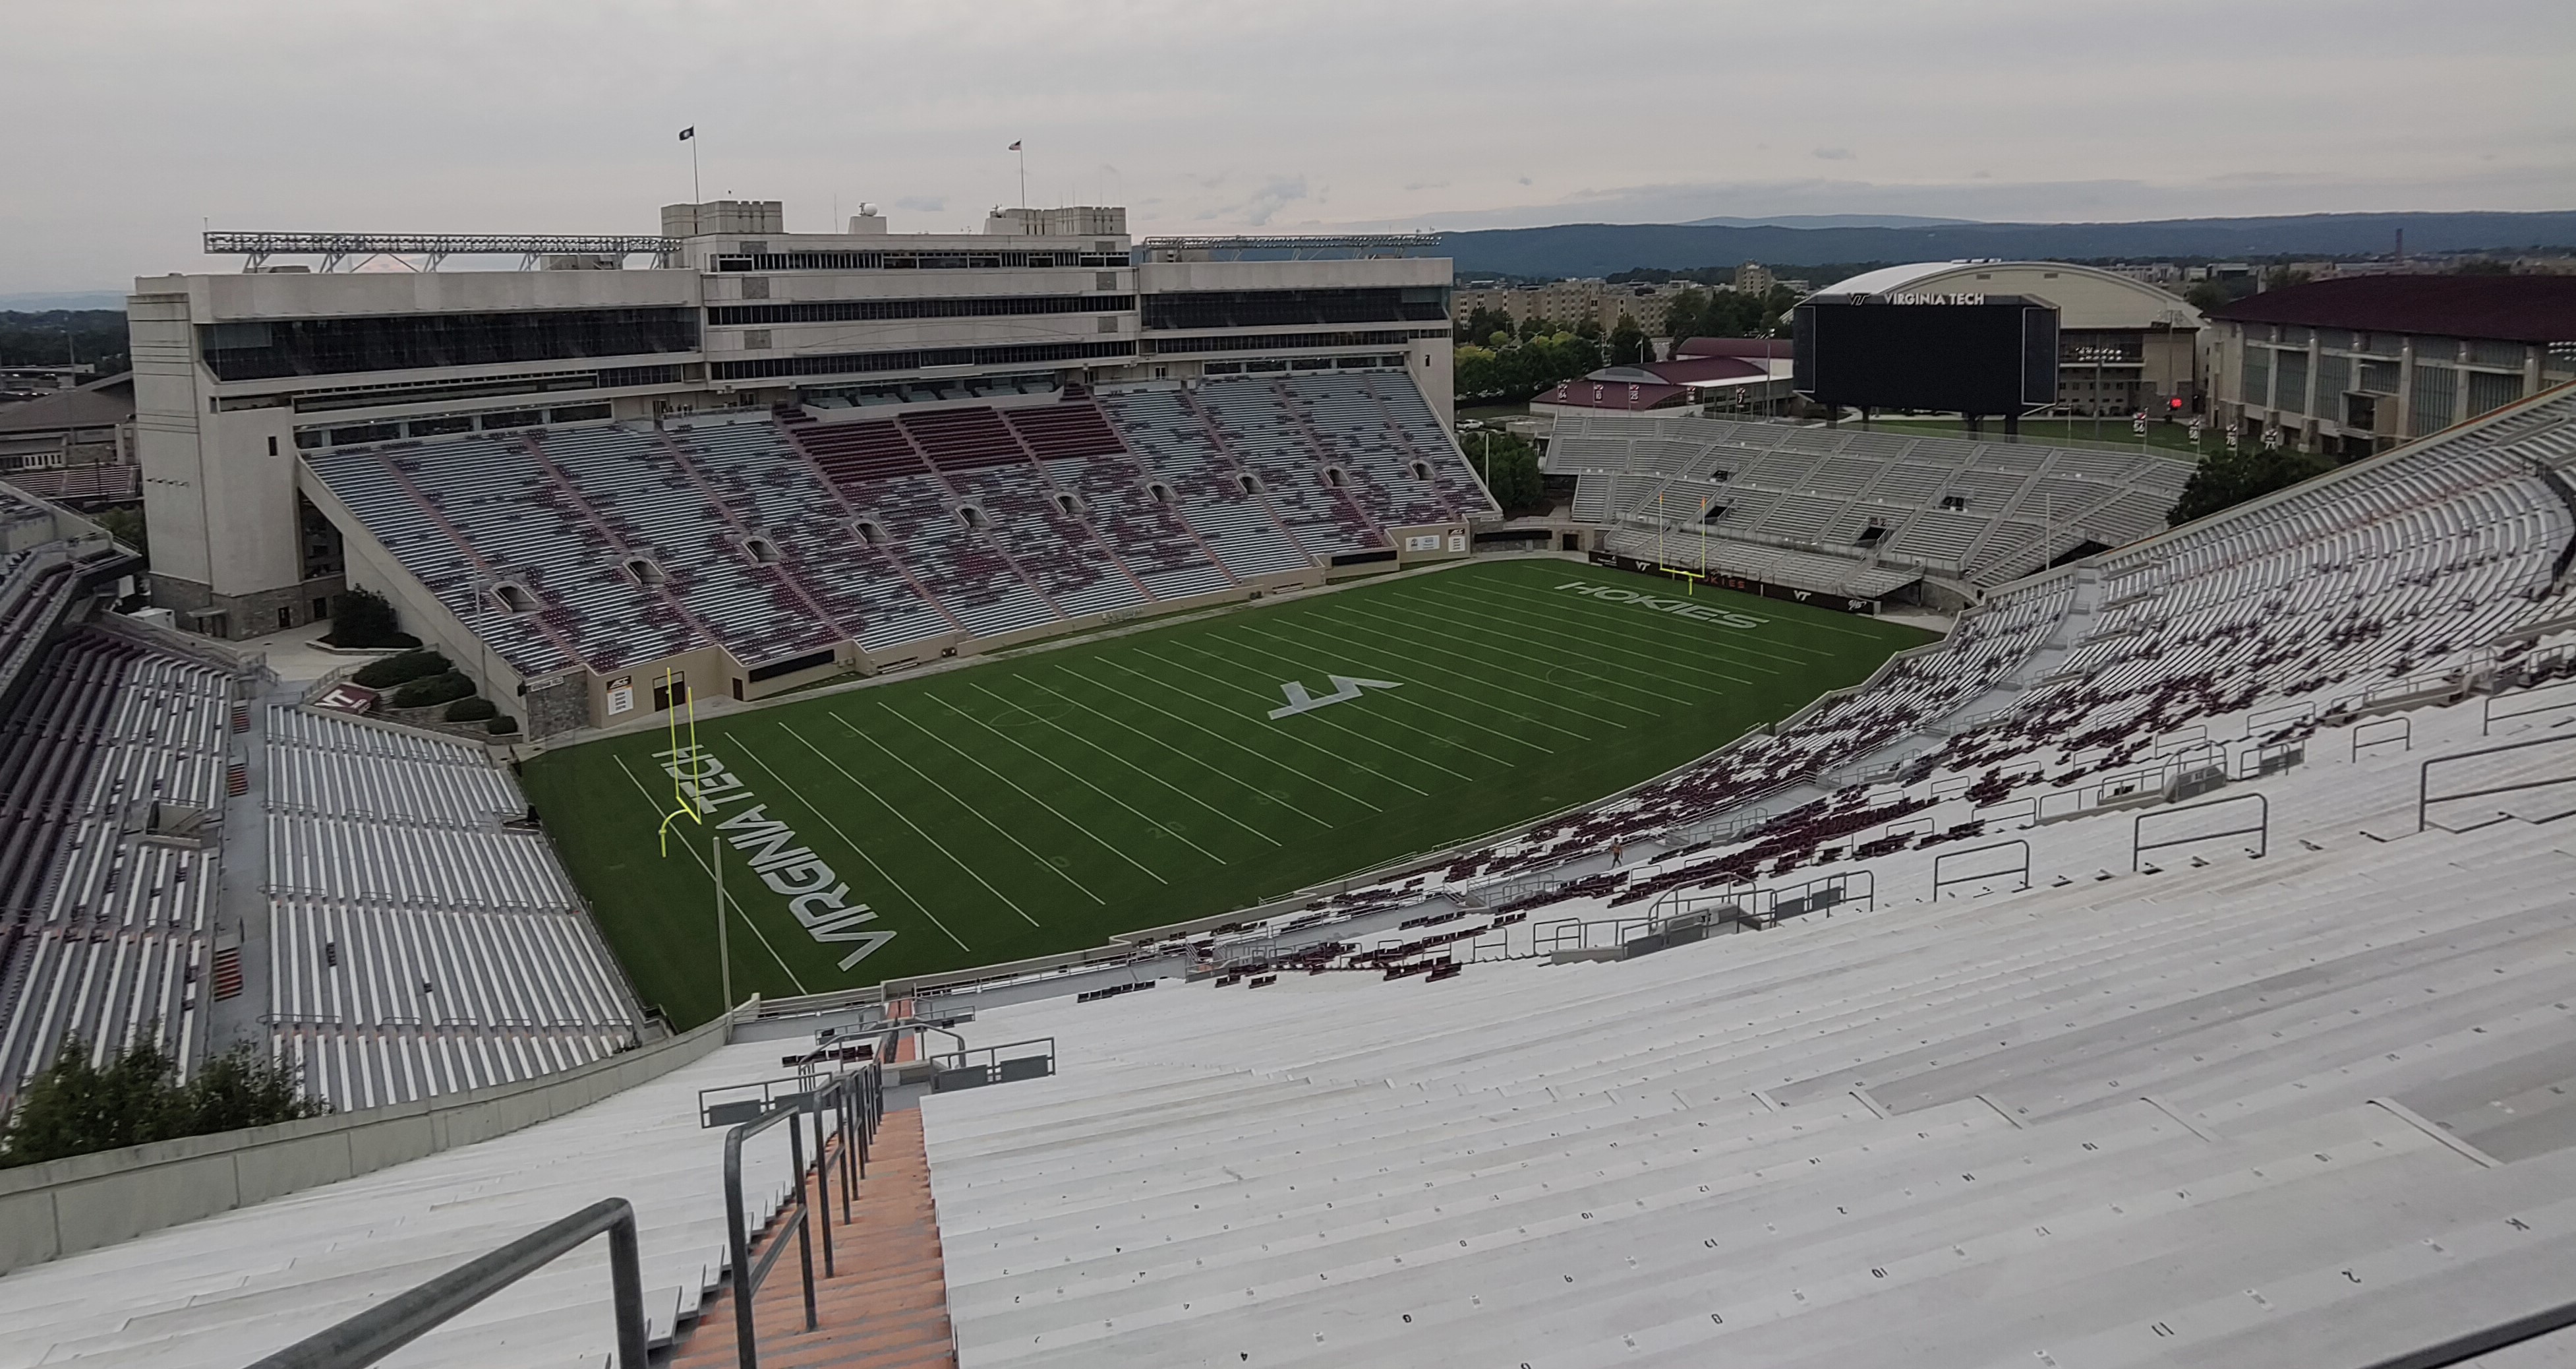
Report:
M827 1155L824 1147L824 1114L832 1114L835 1134L842 1140L837 1155ZM744 1204L742 1204L742 1142L768 1132L781 1121L796 1116L814 1119L814 1183L819 1186L822 1222L814 1222L814 1201L806 1199L806 1160L804 1160L804 1132L788 1127L788 1163L796 1173L796 1196L773 1219L770 1245L752 1261L752 1240L744 1232ZM814 1232L822 1232L822 1274L835 1276L832 1261L832 1168L842 1170L840 1189L840 1219L850 1222L850 1191L858 1178L868 1173L868 1137L876 1134L876 1124L884 1119L884 1085L881 1070L871 1060L863 1067L835 1075L822 1088L806 1093L796 1106L778 1106L762 1116L737 1124L724 1134L724 1222L726 1222L726 1253L732 1256L732 1284L734 1284L734 1361L742 1369L760 1369L760 1330L752 1320L752 1299L760 1294L760 1284L770 1276L770 1268L786 1256L788 1227L796 1230L796 1263L804 1276L804 1307L806 1330L814 1330ZM850 1165L858 1173L850 1173ZM778 1222L786 1225L778 1225Z

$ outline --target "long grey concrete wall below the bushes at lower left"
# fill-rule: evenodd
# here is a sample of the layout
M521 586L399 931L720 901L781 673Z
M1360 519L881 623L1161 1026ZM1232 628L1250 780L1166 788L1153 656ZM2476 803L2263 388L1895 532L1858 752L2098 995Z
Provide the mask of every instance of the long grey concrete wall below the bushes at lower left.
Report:
M0 1274L536 1127L706 1057L729 1026L440 1101L0 1170Z

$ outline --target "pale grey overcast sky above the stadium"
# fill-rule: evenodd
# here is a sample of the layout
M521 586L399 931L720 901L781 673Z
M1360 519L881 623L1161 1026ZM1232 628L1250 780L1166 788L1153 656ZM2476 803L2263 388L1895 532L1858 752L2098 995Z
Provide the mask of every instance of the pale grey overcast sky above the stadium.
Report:
M2576 209L2571 0L13 3L0 291L234 229Z

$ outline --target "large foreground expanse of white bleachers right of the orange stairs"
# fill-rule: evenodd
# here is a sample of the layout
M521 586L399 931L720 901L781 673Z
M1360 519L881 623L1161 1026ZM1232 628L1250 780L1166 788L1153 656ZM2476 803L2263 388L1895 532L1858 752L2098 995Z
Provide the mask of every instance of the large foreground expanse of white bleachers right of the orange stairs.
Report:
M2370 1364L2566 1297L2563 864L2344 825L1628 964L992 1008L1059 1065L925 1103L958 1364Z

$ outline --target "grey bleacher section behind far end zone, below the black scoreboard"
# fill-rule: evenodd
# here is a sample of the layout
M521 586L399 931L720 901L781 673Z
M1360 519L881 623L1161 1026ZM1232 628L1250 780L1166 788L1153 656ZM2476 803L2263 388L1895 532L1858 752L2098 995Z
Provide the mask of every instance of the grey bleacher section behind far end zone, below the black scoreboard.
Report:
M1548 469L1577 474L1574 516L1595 523L1698 523L1726 505L1728 536L1865 554L2009 580L2087 539L2123 544L2164 526L2192 464L1958 438L1731 423L1698 415L1577 415ZM1945 498L1965 508L1940 508Z

